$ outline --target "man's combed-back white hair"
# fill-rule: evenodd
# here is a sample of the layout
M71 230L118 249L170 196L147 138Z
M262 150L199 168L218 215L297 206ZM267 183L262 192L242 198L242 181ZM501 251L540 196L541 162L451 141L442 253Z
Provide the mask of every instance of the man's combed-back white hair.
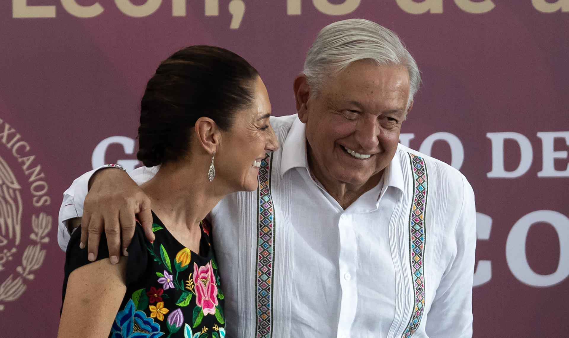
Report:
M419 68L394 32L365 19L348 19L322 28L308 49L303 73L318 95L329 77L335 77L354 61L370 59L378 66L405 66L409 72L409 99L420 84Z

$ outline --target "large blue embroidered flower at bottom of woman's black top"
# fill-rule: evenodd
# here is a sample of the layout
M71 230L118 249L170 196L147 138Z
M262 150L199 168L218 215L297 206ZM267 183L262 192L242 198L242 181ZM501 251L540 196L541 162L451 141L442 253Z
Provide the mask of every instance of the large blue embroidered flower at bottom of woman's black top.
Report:
M126 303L125 310L118 312L110 332L112 338L158 338L164 334L154 319L143 311L135 311L132 299Z

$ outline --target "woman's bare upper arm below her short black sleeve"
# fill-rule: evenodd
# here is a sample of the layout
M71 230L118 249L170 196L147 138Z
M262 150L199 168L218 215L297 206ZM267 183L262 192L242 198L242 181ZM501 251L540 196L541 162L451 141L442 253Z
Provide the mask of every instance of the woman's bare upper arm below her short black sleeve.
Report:
M73 270L67 282L57 338L108 337L126 293L126 264L109 258Z

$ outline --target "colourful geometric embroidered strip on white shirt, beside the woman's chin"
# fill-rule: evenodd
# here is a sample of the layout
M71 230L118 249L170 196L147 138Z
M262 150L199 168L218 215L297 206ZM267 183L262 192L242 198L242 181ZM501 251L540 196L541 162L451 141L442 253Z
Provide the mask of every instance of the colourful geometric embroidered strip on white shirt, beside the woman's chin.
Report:
M275 212L271 197L272 154L261 161L257 193L257 338L273 336Z

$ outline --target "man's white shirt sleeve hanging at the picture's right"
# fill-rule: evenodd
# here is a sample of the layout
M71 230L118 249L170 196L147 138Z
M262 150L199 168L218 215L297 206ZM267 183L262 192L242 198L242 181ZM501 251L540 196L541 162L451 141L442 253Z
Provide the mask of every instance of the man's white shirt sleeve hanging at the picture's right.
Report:
M428 312L426 333L436 338L472 337L472 280L476 249L476 208L463 177L464 198L455 228L456 255L448 264Z

